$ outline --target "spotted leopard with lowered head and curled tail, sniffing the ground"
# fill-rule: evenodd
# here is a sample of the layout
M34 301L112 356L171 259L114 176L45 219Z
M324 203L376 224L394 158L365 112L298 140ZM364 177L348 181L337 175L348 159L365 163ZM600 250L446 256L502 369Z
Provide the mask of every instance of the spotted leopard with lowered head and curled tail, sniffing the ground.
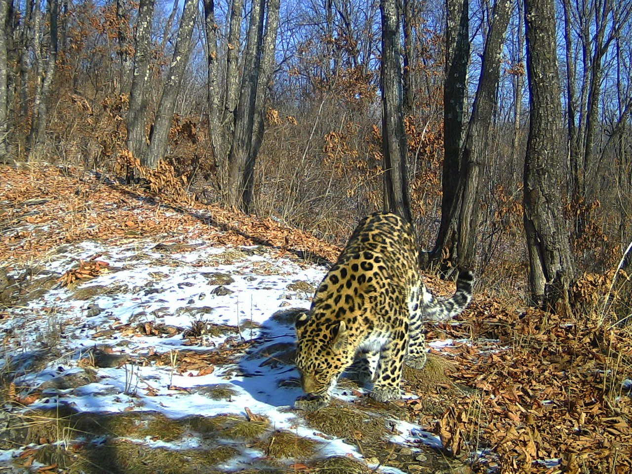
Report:
M369 396L401 398L404 364L427 362L424 322L449 320L470 303L473 271L458 273L456 292L436 298L423 283L411 224L390 212L360 221L319 284L307 312L296 315L295 365L305 395L295 408L319 410L351 365Z

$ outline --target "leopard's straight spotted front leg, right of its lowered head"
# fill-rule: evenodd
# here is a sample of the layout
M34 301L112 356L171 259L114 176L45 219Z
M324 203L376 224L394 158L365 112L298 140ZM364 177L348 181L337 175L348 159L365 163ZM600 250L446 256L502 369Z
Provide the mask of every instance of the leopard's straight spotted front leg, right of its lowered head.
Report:
M396 331L394 337L380 349L380 360L377 368L377 379L371 397L385 402L401 397L401 375L404 356L406 355L406 339L408 336Z

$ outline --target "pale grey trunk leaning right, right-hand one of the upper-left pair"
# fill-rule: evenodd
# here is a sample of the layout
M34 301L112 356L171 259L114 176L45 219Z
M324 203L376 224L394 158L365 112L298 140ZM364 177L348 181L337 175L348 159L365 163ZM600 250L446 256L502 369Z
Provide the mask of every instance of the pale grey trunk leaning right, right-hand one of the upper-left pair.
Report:
M191 55L191 35L193 33L193 25L198 13L197 0L185 0L185 8L180 20L180 28L178 30L178 39L176 39L176 47L173 51L173 59L169 66L168 79L162 90L162 97L158 110L154 127L149 137L149 150L145 160L141 160L144 166L155 168L158 162L164 157L167 150L167 141L169 140L169 129L173 120L173 112L176 108L176 99L182 85L182 78L185 74L186 65Z

